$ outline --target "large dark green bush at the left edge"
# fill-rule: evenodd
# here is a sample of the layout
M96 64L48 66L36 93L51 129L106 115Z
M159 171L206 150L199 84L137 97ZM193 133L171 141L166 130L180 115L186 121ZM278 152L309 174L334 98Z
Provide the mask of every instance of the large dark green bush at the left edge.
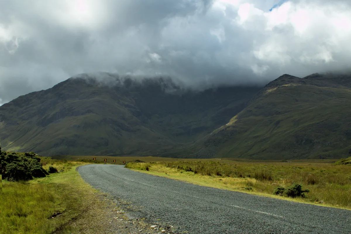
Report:
M45 177L48 173L42 168L40 158L35 153L6 153L0 149L2 179L10 181L31 180Z

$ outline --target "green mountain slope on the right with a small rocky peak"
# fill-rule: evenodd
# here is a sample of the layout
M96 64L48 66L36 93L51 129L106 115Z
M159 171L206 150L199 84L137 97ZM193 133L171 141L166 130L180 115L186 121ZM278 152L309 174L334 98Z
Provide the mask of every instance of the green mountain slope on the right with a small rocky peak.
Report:
M280 76L182 154L194 158L325 159L351 154L351 76Z

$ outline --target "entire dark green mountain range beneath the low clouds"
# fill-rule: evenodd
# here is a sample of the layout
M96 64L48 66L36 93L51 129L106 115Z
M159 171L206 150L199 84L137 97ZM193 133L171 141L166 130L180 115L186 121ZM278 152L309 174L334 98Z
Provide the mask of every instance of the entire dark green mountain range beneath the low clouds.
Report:
M41 155L339 159L351 155L351 76L282 75L193 91L167 78L83 74L0 107L7 151ZM108 82L107 82L108 81Z

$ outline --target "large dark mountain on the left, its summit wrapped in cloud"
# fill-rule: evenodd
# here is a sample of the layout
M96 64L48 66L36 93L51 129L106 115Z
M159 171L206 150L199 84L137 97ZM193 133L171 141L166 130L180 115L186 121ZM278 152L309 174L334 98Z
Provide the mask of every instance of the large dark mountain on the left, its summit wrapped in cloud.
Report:
M41 155L151 155L242 111L259 87L184 88L170 78L81 74L0 107L2 148Z

